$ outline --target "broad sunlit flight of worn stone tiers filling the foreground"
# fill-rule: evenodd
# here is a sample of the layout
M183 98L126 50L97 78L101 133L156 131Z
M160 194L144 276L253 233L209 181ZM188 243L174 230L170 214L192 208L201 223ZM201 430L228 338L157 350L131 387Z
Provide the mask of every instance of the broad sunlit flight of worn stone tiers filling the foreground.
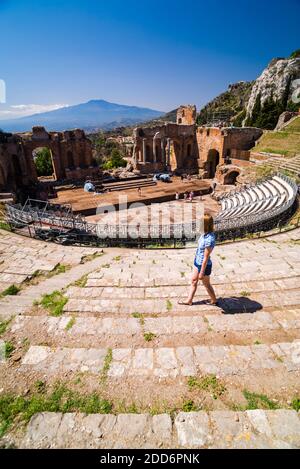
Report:
M34 306L0 387L63 382L111 402L108 414L41 412L19 447L300 447L300 261L296 229L219 245L212 281L185 297L194 248L123 250L64 290L64 314ZM110 252L110 250L107 250ZM50 292L49 292L50 293ZM24 345L26 344L26 345ZM247 397L248 396L248 397ZM252 400L251 400L252 399ZM258 404L253 404L253 399Z

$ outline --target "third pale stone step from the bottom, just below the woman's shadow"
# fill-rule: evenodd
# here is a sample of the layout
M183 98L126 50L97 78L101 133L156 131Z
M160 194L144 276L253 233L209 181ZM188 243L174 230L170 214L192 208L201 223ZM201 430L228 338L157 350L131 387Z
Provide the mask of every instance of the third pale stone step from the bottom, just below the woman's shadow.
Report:
M254 339L268 343L300 338L300 309L259 311L256 314L204 314L201 316L160 316L141 318L82 317L82 316L17 316L11 332L18 339L26 337L31 345L97 347L145 345L145 333L155 334L155 345L175 342L176 345L230 343L253 344ZM216 334L222 333L221 337ZM225 334L224 334L225 333ZM242 334L241 334L242 333ZM255 336L253 334L256 334ZM258 334L262 333L262 334ZM228 337L228 338L227 338ZM254 337L254 338L253 338ZM152 342L153 343L153 342Z

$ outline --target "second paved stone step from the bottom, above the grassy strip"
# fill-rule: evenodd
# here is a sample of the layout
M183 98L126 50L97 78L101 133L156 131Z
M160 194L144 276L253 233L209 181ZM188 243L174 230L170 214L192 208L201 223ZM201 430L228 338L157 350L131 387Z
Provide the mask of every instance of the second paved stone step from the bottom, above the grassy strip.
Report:
M19 371L89 372L101 373L105 348L66 348L30 346L21 361ZM252 346L194 346L159 348L116 348L107 370L110 378L149 377L163 379L213 373L219 377L231 375L249 378L272 370L279 373L300 371L300 340L271 345ZM270 387L272 384L270 383Z

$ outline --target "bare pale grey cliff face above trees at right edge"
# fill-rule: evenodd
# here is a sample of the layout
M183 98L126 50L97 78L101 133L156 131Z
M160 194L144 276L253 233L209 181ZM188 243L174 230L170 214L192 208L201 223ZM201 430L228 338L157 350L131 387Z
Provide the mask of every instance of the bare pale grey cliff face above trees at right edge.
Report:
M246 106L247 117L251 116L259 96L261 106L269 98L274 101L290 101L294 89L292 82L297 78L300 78L300 57L273 59L253 84Z

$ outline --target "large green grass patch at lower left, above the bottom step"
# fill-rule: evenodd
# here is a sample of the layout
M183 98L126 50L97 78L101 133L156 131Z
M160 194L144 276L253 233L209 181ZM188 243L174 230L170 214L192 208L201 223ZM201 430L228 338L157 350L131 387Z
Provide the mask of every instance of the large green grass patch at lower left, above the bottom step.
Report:
M41 385L42 386L42 385ZM40 390L31 396L0 396L0 437L17 421L28 422L37 412L83 412L109 414L112 404L99 394L81 395L62 384L56 384L50 394Z

